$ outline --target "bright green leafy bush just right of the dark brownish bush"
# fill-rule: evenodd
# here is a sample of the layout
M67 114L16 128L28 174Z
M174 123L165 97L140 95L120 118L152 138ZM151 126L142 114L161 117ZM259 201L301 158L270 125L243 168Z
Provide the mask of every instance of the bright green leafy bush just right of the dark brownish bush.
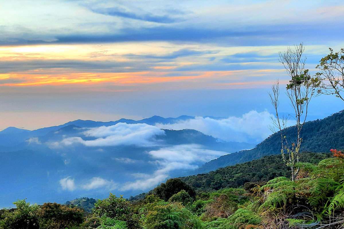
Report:
M125 221L129 228L139 228L137 215L133 213L132 206L123 197L116 197L111 194L108 198L98 200L95 203L93 213L97 217L108 217Z

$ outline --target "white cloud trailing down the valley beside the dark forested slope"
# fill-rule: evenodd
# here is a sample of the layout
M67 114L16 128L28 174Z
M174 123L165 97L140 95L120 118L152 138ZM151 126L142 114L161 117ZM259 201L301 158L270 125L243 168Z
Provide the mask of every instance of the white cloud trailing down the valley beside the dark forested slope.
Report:
M203 149L203 146L197 144L186 144L163 147L159 150L149 151L148 154L156 159L154 163L158 164L158 169L152 174L133 174L139 179L122 185L121 191L147 190L165 181L174 170L196 169L198 164L203 164L227 153Z

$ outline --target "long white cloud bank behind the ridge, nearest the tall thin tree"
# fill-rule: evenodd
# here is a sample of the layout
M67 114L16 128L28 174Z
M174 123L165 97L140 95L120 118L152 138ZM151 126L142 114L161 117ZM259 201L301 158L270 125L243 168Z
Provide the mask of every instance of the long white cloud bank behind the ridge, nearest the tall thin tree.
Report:
M250 111L241 117L213 119L210 117L195 117L173 124L155 124L162 129L195 129L204 134L212 135L227 141L255 142L267 138L271 131L271 114L267 111Z

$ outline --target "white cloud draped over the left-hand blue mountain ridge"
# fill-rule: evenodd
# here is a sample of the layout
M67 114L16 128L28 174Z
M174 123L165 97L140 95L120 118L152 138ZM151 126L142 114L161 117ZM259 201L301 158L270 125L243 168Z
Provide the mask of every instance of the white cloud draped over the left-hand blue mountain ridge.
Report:
M148 124L117 123L112 126L89 128L83 134L86 137L95 137L96 139L84 140L81 137L70 137L63 139L61 144L65 146L83 144L90 147L119 145L156 146L159 145L159 142L155 139L155 136L164 135L165 131Z

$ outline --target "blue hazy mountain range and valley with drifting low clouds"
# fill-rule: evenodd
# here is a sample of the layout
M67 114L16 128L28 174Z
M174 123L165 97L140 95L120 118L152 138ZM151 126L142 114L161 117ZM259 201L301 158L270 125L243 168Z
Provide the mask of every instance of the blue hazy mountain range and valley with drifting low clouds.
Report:
M23 198L40 204L64 203L82 196L104 198L109 192L129 197L168 178L193 174L195 168L211 159L254 147L192 129L160 130L152 126L189 118L192 117L153 116L114 122L75 120L32 131L4 129L0 131L0 173L6 175L0 178L0 208L10 207L12 202ZM116 124L121 126L114 130ZM141 129L131 129L136 126ZM132 132L127 133L129 130ZM110 134L99 137L99 131ZM127 135L118 137L122 132ZM194 158L188 158L180 150ZM160 180L154 181L155 178ZM141 187L142 184L135 184L137 180L152 184ZM131 188L123 188L128 185Z

